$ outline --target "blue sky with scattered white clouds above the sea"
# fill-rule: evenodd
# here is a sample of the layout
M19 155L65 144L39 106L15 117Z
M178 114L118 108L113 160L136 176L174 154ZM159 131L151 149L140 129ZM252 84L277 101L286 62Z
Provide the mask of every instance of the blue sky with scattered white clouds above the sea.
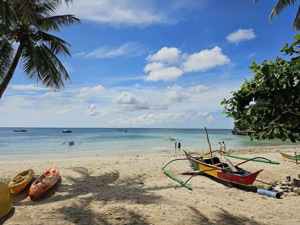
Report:
M249 66L293 43L298 4L269 21L276 1L78 0L57 15L82 25L54 34L71 83L37 86L17 67L0 99L0 127L233 129L221 112Z

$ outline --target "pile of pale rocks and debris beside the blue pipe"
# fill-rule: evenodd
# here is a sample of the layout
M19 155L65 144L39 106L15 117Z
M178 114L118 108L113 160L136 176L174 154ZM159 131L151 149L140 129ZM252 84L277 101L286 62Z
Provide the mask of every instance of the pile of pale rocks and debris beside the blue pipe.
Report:
M300 179L300 174L298 175L298 178ZM270 187L269 191L279 192L280 195L283 195L284 192L286 192L285 195L289 195L289 196L300 195L300 180L295 178L291 180L290 176L286 177L286 181L275 183L274 186L275 187ZM293 194L289 194L289 192L292 192Z

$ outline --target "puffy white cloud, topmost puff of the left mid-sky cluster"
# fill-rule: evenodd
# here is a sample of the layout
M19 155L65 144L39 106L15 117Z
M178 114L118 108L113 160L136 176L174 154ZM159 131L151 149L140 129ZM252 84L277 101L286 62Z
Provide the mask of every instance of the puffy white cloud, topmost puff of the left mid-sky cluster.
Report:
M181 51L175 47L163 47L157 53L149 55L148 61L160 61L168 64L179 63Z

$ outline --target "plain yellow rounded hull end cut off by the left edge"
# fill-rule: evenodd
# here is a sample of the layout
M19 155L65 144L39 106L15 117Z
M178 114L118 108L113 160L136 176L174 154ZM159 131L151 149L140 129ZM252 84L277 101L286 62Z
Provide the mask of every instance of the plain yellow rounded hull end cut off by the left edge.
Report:
M0 217L9 213L12 207L11 190L6 183L0 182Z

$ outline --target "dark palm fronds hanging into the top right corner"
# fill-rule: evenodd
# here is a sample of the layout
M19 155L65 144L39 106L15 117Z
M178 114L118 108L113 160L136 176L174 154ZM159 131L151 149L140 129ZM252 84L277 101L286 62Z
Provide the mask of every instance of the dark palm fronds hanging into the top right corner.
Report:
M261 0L253 0L255 4L260 1ZM298 0L279 0L269 16L270 22L272 22L274 17L278 16L282 11L288 9L291 6L294 6L296 2L298 2ZM293 30L294 31L300 30L300 6L298 7L297 15L293 22Z

